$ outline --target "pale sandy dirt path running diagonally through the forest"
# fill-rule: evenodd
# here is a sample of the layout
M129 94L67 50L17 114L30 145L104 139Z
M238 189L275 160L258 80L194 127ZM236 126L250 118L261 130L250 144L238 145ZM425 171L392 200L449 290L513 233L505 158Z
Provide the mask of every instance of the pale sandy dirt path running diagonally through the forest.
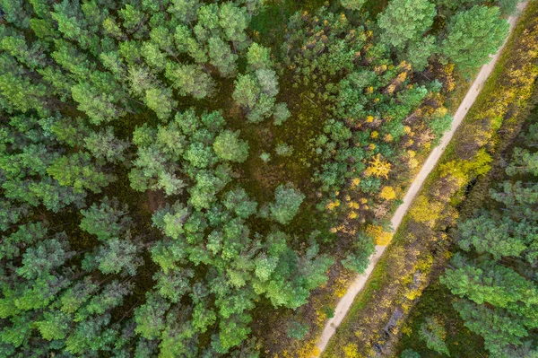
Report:
M528 3L525 2L525 3L519 4L518 6L520 10L519 13L523 12L526 4ZM510 16L510 18L508 19L508 22L510 23L510 33L514 31L517 19L519 18L519 13L514 16ZM445 133L445 135L443 135L440 144L430 153L430 156L428 157L426 162L424 162L421 168L421 171L416 176L416 178L413 179L411 186L408 188L404 196L404 201L402 205L398 207L394 216L391 219L391 223L392 223L392 227L394 231L397 231L398 226L400 225L400 223L402 223L402 220L404 219L404 215L407 213L407 210L412 204L412 200L419 192L424 181L428 178L428 175L430 174L431 170L433 170L435 166L437 165L438 160L440 159L441 155L444 153L445 149L447 148L448 143L450 143L452 137L456 133L457 128L463 122L467 112L469 111L469 109L471 109L474 101L476 100L480 92L482 91L484 83L486 83L486 81L490 77L490 74L493 72L493 69L495 68L495 65L497 64L497 61L499 60L499 57L503 49L505 48L505 45L506 45L506 41L503 44L503 46L499 48L499 51L491 59L490 63L482 66L480 73L477 74L476 78L473 81L473 84L471 85L471 88L468 90L467 94L464 97L464 100L460 104L459 108L456 110L456 114L454 115L454 120L452 122L452 127L450 131L448 131L447 133ZM342 299L336 305L336 308L334 310L334 317L332 319L329 319L325 323L324 330L317 341L317 348L319 349L319 355L323 354L323 352L325 351L325 348L329 344L331 337L334 336L336 329L340 326L347 312L350 310L353 304L353 301L355 300L355 297L360 293L360 291L367 284L369 275L372 273L372 271L376 267L377 261L379 260L379 258L383 256L383 253L385 252L385 250L386 250L386 246L376 247L376 252L370 258L368 268L364 271L363 274L357 276L357 278L352 282L352 284L348 288L347 292L343 295Z

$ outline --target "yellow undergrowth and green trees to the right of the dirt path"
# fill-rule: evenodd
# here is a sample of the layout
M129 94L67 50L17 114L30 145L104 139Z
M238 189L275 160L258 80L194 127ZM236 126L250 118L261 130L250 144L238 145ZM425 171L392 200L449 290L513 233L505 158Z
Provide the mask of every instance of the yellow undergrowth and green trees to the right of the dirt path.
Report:
M531 2L322 357L537 356L537 49Z

